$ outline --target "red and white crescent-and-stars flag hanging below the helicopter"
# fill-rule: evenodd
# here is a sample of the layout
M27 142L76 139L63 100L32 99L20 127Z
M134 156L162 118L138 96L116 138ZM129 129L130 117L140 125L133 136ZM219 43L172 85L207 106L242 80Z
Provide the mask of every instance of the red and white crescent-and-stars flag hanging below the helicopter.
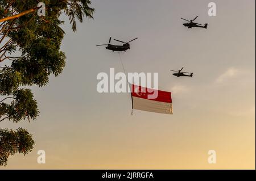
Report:
M133 85L131 96L135 110L172 114L171 92Z

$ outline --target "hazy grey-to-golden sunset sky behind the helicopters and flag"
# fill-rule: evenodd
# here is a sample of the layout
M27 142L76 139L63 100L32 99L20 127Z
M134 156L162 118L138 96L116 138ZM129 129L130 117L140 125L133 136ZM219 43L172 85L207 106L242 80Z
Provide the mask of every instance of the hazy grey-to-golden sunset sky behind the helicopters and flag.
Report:
M217 15L208 16L215 2ZM67 65L47 86L32 87L40 115L26 128L35 146L1 169L255 169L255 1L93 0L94 19L61 46ZM188 29L180 18L208 28ZM123 71L118 53L97 44L129 41L127 72L159 73L174 115L134 110L128 93L97 92L100 72ZM112 42L114 43L114 41ZM118 43L117 43L118 44ZM176 78L170 69L193 72ZM38 150L46 163L37 162ZM216 151L216 164L208 151Z

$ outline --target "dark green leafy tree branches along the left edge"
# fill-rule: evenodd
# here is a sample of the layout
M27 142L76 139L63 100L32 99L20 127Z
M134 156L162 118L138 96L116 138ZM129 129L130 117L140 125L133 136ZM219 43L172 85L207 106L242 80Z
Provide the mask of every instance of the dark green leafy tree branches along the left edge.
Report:
M64 22L69 17L72 30L76 20L93 18L89 0L46 0L46 16L38 16L39 1L0 0L0 123L35 120L39 114L34 95L26 86L45 86L49 75L59 75L65 66L60 50ZM0 129L0 165L9 155L28 153L34 141L25 129Z

